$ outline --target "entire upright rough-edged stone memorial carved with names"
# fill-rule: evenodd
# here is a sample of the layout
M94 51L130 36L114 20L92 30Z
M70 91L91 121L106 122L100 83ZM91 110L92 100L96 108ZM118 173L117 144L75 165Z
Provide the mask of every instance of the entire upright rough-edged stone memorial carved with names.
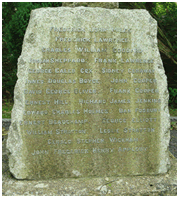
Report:
M146 10L32 10L17 75L7 140L15 178L168 171L167 80Z

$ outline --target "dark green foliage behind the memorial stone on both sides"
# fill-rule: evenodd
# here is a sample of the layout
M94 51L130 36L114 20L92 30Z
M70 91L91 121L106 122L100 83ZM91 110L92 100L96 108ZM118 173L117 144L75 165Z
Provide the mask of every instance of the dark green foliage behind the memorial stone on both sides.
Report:
M2 3L2 94L3 102L13 100L17 80L17 59L32 9L60 7L60 2ZM166 71L172 109L177 107L177 4L175 2L119 3L120 9L146 9L158 22L158 45Z

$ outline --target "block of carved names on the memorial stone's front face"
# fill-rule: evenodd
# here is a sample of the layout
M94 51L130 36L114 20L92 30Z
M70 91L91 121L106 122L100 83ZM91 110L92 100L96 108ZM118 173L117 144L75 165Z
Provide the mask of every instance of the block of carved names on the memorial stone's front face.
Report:
M40 46L43 58L30 57L24 89L20 126L32 139L47 137L31 155L150 151L145 134L157 131L161 99L153 57L145 57L142 46L130 47L133 29L48 31L50 46Z

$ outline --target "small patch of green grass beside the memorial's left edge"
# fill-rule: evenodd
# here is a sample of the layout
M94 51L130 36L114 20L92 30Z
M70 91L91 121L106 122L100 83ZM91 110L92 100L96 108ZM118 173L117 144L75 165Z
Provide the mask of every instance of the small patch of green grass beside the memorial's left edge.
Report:
M13 107L13 101L3 99L2 100L2 118L11 118L11 111Z

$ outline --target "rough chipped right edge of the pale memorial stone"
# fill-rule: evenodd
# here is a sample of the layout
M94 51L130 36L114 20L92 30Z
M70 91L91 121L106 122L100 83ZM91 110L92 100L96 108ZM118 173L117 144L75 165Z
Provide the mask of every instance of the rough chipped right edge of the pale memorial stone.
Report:
M167 90L167 77L165 75L165 70L163 67L163 62L158 48L157 40L157 21L152 17L149 18L150 21L150 36L151 44L154 48L153 57L155 57L155 78L157 79L157 87L159 89L159 95L161 97L161 120L160 120L160 164L159 173L166 173L170 168L169 160L169 142L170 142L170 114L168 108L169 92ZM161 82L160 82L161 81Z

